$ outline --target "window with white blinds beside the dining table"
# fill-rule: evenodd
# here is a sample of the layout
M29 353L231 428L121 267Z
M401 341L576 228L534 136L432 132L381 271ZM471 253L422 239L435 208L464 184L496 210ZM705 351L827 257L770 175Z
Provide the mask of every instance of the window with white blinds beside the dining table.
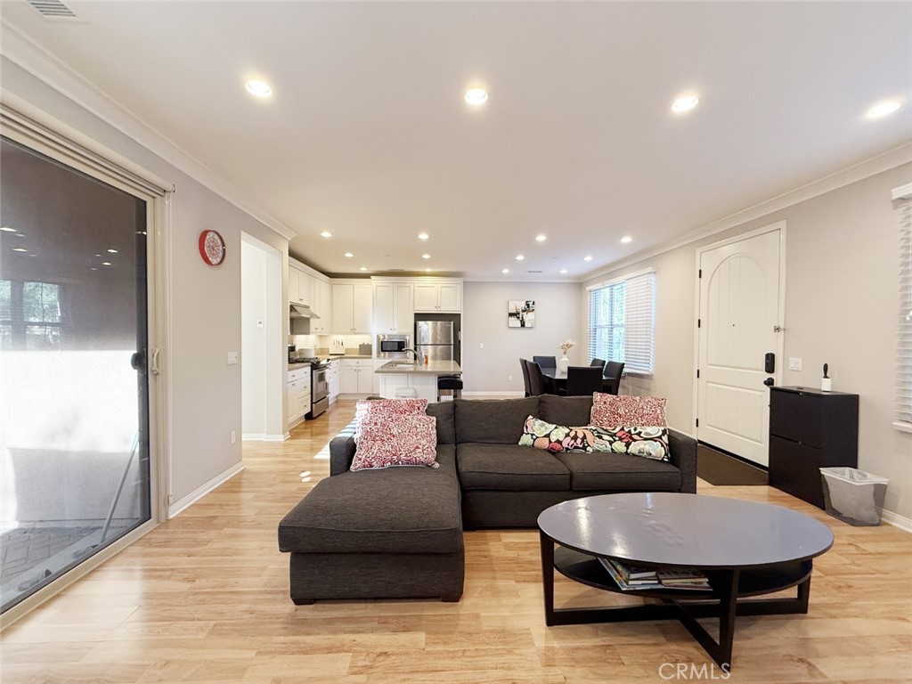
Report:
M627 373L652 375L655 272L628 275L588 289L589 360L619 361Z

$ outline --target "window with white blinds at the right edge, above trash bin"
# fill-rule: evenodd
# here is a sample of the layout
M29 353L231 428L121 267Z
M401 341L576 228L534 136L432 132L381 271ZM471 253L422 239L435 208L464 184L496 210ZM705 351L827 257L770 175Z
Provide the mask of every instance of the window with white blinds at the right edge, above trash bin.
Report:
M896 188L899 209L899 315L896 340L896 422L912 432L912 183Z

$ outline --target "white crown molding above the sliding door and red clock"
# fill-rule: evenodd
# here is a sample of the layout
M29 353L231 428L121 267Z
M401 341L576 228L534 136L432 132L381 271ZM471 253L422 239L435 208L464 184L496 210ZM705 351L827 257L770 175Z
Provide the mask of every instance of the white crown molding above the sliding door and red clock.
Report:
M200 182L227 202L231 202L256 221L284 237L285 240L298 236L294 230L268 212L264 212L254 202L250 202L244 197L244 193L231 183L182 150L179 145L169 140L129 109L110 98L87 78L67 66L2 16L0 16L0 30L3 31L0 54L11 62L73 101L89 114L104 121L111 128L118 130L146 150L161 157L163 161L167 161L176 169L183 171L194 181Z

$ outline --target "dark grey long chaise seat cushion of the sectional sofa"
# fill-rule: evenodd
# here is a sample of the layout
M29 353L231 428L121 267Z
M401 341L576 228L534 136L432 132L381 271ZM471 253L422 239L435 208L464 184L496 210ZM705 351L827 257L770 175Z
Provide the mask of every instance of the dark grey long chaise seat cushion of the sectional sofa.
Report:
M342 554L460 551L455 451L449 444L438 446L438 469L343 472L317 482L279 523L279 549Z

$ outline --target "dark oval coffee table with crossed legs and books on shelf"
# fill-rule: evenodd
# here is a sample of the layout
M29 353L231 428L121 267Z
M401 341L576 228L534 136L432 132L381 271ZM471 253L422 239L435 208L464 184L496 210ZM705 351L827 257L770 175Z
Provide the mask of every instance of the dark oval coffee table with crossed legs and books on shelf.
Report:
M833 533L803 513L768 503L670 492L589 496L538 516L544 622L678 619L720 666L731 668L735 616L807 613L813 558ZM557 544L555 551L554 544ZM554 569L588 586L621 589L598 562L689 567L710 578L711 591L627 590L657 604L554 609ZM793 598L747 599L797 587ZM719 618L719 640L697 618Z

